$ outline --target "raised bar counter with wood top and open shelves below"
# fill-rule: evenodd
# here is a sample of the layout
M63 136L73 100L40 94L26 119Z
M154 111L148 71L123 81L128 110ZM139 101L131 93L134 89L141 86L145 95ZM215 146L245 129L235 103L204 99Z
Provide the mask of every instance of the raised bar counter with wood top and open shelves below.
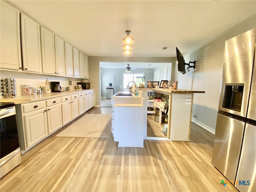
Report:
M178 141L190 140L190 127L194 93L204 93L197 90L171 90L165 88L142 88L142 96L147 97L148 92L156 92L168 96L168 127L167 139ZM163 103L157 103L156 107ZM147 114L147 100L144 100L143 113ZM147 138L147 116L144 116L144 138Z

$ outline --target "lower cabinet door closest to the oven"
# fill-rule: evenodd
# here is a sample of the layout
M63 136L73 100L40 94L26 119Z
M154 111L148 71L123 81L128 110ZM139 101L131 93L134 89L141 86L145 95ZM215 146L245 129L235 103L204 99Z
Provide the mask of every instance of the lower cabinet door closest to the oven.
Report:
M24 115L27 148L48 135L45 108Z

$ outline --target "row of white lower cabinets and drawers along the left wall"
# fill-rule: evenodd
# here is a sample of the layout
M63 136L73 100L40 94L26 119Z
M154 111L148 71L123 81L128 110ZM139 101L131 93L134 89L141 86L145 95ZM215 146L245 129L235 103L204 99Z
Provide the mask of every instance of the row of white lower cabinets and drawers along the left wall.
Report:
M89 110L89 98L92 108L92 90L16 105L16 122L22 154Z

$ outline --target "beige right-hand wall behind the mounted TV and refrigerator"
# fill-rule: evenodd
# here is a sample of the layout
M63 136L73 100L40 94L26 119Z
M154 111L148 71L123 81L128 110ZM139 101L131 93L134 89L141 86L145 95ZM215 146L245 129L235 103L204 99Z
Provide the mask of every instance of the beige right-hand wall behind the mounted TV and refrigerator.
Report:
M232 26L190 52L182 53L186 63L196 60L196 68L187 74L175 69L179 88L203 90L205 94L194 94L192 118L201 126L215 132L220 97L225 41L256 28L256 15ZM182 52L182 50L180 50Z

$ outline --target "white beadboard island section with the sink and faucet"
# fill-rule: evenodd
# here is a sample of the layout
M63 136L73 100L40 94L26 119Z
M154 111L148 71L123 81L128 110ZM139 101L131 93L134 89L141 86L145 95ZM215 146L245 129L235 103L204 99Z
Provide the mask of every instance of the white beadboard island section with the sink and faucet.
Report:
M111 97L112 104L112 134L118 147L144 147L143 112L144 98L139 96L118 96L118 92Z

